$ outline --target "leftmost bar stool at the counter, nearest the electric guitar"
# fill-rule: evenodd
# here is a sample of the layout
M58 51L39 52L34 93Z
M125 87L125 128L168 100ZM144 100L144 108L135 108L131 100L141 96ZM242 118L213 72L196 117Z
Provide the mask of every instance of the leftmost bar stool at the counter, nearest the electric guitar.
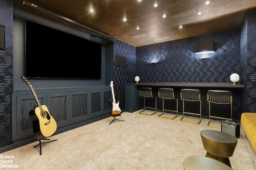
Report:
M148 116L154 115L157 111L155 111L154 113L150 113L150 114L149 113L142 113L142 112L146 111L145 108L150 108L150 109L155 109L156 110L156 107L145 107L145 98L155 98L155 106L156 106L156 96L155 95L153 96L152 88L150 88L150 87L141 87L141 88L139 88L139 95L144 98L144 110L140 111L139 114L148 115Z

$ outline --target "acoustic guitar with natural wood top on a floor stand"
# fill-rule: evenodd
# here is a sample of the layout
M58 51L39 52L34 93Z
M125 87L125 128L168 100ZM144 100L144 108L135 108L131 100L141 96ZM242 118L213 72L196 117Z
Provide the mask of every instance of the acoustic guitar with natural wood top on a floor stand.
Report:
M36 139L40 140L44 137L50 137L57 129L57 123L50 115L47 106L40 104L36 92L30 82L24 76L22 80L30 87L37 105L29 111L30 119L33 123L33 132Z

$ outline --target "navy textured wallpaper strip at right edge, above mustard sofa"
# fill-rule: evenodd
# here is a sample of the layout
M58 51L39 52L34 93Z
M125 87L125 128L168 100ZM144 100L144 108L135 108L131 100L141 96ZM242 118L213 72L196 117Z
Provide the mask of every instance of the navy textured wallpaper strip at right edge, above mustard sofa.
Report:
M247 105L256 113L256 11L248 12L247 20Z

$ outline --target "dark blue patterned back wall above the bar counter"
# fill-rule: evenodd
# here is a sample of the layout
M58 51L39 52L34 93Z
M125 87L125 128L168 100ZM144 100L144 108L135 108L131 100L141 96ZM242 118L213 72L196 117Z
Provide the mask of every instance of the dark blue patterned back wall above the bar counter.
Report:
M206 39L214 39L215 52L196 55L194 43ZM137 47L136 66L141 82L230 82L241 74L240 29Z

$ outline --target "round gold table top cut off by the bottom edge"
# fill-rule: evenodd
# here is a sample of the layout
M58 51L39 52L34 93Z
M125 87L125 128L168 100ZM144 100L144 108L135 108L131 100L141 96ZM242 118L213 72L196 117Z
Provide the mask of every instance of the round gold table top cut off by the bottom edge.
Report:
M228 165L204 156L191 156L183 162L184 170L232 170Z

